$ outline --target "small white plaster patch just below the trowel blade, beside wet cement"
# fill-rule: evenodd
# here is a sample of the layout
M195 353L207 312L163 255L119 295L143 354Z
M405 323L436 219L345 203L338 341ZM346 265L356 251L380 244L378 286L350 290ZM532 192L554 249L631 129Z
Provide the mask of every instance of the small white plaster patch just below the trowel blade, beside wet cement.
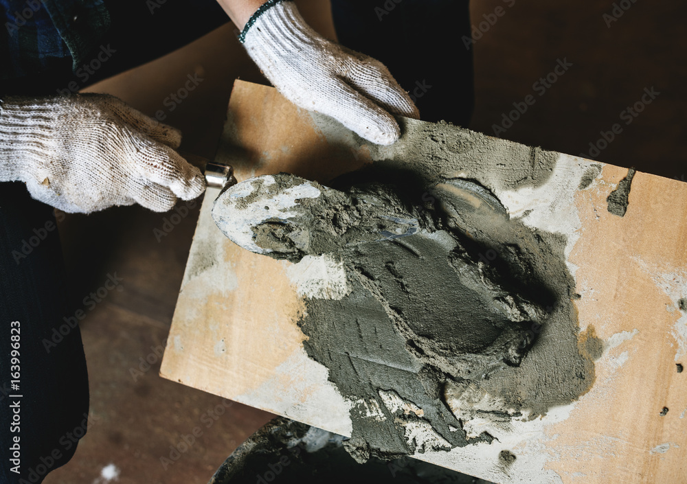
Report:
M299 296L340 301L350 294L346 270L332 255L306 255L297 264L284 264Z

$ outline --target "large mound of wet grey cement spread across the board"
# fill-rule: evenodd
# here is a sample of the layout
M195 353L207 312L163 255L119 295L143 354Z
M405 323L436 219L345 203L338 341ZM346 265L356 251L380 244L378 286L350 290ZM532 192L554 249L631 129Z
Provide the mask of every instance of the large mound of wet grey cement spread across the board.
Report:
M273 178L270 190L305 182ZM326 253L346 270L348 294L306 299L299 325L308 356L353 402L346 446L359 461L490 442L485 423L544 415L594 382L563 237L470 209L460 183L440 182L388 167L341 179L341 192L309 182L322 210L304 198L287 223L254 227L273 257ZM416 231L383 240L375 223L367 236L349 223L397 219Z

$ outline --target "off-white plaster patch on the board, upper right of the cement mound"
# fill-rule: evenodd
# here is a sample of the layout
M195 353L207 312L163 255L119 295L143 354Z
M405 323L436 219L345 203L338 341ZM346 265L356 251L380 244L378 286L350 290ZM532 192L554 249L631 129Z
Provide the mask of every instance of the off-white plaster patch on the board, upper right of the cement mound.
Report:
M568 262L568 255L580 237L582 223L575 196L584 174L595 164L598 163L559 154L550 178L543 185L496 193L512 218L522 218L529 227L560 233L567 238L565 263L573 276L577 267Z

